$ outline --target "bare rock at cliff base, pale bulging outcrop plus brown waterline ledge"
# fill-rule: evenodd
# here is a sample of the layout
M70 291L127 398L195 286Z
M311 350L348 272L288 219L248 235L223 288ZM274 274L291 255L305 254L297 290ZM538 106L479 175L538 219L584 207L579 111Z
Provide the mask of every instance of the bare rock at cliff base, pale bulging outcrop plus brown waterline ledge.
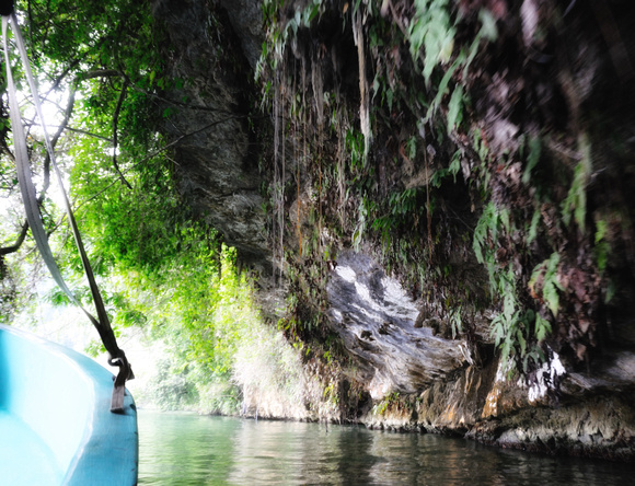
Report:
M369 428L442 432L549 454L635 459L635 398L628 351L605 355L593 373L551 351L519 379L483 344L474 363L464 339L443 337L438 319L367 255L344 252L327 286L333 328L359 363L374 406Z

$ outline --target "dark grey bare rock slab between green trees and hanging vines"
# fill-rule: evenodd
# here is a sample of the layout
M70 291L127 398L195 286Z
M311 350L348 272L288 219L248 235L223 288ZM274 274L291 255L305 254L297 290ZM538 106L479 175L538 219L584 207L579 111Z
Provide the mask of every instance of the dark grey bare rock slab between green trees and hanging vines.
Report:
M153 14L170 37L169 74L183 80L182 85L166 89L160 101L160 109L169 114L161 131L174 143L181 193L228 244L238 248L242 262L267 274L270 263L262 178L256 140L247 120L254 86L245 56L253 58L254 51L253 47L243 51L236 36L253 33L254 22L253 16L238 15L239 4L226 3L231 7L231 21L227 11L211 11L204 1L154 2ZM243 3L254 10L257 2ZM213 22L219 25L216 31ZM240 30L243 23L251 27Z

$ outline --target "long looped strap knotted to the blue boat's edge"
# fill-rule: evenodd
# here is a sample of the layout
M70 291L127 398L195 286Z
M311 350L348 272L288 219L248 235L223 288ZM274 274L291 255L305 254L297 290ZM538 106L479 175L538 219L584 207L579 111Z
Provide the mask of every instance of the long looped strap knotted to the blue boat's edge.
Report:
M109 354L108 363L111 366L116 366L119 368L119 372L115 378L115 384L113 389L113 398L111 402L111 412L122 413L124 412L124 395L126 390L126 381L135 378L132 374L132 369L130 363L126 359L125 352L117 346L117 340L115 334L111 326L100 289L95 281L93 270L91 268L90 262L88 259L86 252L84 250L81 235L77 225L77 221L72 213L68 196L64 188L61 173L57 166L55 151L53 150L53 144L50 143L50 138L46 130L46 125L44 123L44 116L42 112L42 106L39 103L39 95L37 94L37 89L33 74L31 72L31 65L28 62L28 57L26 55L26 48L24 47L24 40L22 39L22 34L20 33L20 26L18 25L18 19L15 12L13 11L13 0L0 0L0 14L2 15L2 38L4 40L4 62L7 65L7 90L9 95L9 106L11 115L11 129L13 131L13 147L15 151L15 166L18 170L18 182L20 184L20 192L22 193L22 200L24 202L24 209L26 212L26 220L31 228L33 239L37 245L37 248L50 271L50 275L59 286L61 290L69 297L71 302L78 305L91 323L97 329L100 337L104 344L104 347ZM53 256L53 252L48 244L48 236L46 230L44 229L44 223L42 221L42 215L39 212L39 207L37 202L37 196L35 193L35 185L31 178L31 165L28 163L28 150L26 147L26 137L24 135L24 127L22 125L22 117L20 114L20 106L18 104L18 96L15 84L13 82L13 74L11 72L11 63L9 58L9 43L8 43L8 26L9 23L13 24L13 33L15 36L15 43L18 45L18 50L20 51L20 57L22 58L22 63L24 65L24 73L28 81L28 86L31 88L31 93L33 94L33 101L35 103L35 111L39 117L42 129L44 131L44 141L48 155L50 157L50 164L54 169L54 173L57 178L57 183L60 187L60 192L64 196L65 208L67 217L77 243L78 251L81 256L82 265L84 267L84 273L86 279L89 280L89 286L91 288L91 293L93 296L93 301L95 303L95 309L97 311L99 319L95 319L90 312L88 312L78 301L78 299L70 291L64 278L61 271L57 266L57 263Z

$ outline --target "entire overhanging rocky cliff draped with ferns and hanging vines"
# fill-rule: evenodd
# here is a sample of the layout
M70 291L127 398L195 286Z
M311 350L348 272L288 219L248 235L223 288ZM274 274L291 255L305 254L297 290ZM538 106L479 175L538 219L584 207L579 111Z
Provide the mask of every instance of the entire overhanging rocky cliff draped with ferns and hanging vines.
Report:
M157 1L182 189L336 338L337 418L632 460L635 11L437 3Z

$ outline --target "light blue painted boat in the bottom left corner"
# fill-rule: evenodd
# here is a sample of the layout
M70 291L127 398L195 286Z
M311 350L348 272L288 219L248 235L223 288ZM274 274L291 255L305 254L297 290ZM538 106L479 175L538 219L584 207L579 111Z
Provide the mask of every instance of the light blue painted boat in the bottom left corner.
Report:
M92 359L0 325L0 483L136 485L135 402L113 414L112 391Z

